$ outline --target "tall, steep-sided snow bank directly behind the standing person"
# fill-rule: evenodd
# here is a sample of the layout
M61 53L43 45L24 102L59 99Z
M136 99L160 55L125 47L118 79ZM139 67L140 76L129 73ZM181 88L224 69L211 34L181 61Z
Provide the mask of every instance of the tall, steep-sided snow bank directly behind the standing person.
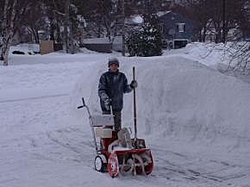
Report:
M139 133L234 148L250 140L249 84L174 55L120 60L129 81L131 67L136 67ZM100 113L97 84L107 69L106 62L93 69L81 77L72 98L90 95L85 99L91 111ZM126 94L124 100L123 125L133 129L132 94Z

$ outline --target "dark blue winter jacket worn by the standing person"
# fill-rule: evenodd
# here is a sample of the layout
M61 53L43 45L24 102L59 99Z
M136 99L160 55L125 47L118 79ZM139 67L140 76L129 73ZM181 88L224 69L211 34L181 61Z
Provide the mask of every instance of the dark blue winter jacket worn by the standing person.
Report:
M123 94L131 92L127 78L122 72L107 71L100 77L98 95L100 97L102 111L106 111L104 102L111 99L114 111L121 111L123 108Z

